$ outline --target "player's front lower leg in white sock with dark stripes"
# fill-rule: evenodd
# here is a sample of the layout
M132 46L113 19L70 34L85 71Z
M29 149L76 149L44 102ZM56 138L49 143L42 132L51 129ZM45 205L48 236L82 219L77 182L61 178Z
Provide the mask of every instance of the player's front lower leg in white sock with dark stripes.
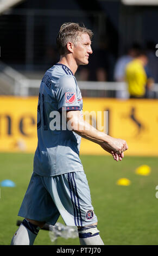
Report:
M80 245L104 245L97 229L97 222L94 224L78 227Z

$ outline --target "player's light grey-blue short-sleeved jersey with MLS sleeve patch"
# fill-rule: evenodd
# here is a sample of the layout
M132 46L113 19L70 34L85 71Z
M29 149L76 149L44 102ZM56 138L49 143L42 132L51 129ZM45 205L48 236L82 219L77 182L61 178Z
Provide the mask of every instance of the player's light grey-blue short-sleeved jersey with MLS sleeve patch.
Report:
M37 107L38 144L34 156L35 173L54 176L83 171L79 159L81 137L62 124L62 110L82 112L82 109L81 92L72 71L63 64L55 64L47 70L40 85ZM57 116L58 119L54 119ZM56 125L59 119L60 127L53 130L51 124Z

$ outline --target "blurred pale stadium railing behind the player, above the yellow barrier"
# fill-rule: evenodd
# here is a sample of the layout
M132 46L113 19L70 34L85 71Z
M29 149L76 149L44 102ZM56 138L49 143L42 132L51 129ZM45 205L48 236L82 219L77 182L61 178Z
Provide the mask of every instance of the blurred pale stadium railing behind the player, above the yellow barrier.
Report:
M1 95L37 96L39 94L41 80L30 79L3 62L0 62L0 80ZM125 82L78 81L78 86L83 97L129 98ZM154 84L151 98L158 99L158 84Z

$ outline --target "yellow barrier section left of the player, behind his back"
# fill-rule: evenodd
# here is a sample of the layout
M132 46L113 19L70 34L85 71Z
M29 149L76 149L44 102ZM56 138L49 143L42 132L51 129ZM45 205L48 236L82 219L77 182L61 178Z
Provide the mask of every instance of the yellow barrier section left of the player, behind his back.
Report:
M37 97L0 97L0 151L34 152Z

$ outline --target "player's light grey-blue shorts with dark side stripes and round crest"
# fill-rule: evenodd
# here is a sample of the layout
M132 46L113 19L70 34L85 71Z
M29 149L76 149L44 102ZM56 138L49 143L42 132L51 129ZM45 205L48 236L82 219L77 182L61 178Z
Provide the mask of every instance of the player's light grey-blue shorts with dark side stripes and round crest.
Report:
M60 215L71 226L97 222L85 173L50 177L33 173L18 216L55 225Z

